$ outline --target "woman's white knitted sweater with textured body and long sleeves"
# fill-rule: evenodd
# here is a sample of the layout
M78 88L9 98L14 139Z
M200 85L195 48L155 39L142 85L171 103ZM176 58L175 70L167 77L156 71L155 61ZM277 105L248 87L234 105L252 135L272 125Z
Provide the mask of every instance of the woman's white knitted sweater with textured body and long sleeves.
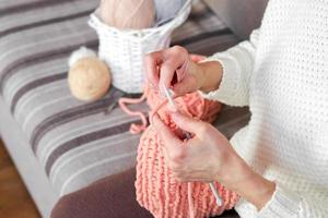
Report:
M236 152L276 181L260 210L245 199L242 218L328 217L328 0L271 0L260 29L209 60L223 65L218 90L204 95L249 106Z

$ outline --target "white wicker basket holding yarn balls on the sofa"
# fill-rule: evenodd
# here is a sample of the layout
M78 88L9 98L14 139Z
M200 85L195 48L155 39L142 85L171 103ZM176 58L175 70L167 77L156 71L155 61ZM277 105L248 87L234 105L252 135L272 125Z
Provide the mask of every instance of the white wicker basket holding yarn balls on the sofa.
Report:
M113 85L127 93L142 93L143 56L167 48L172 32L188 17L191 0L168 23L144 29L118 29L104 24L98 10L91 14L89 25L99 37L98 56L112 72Z

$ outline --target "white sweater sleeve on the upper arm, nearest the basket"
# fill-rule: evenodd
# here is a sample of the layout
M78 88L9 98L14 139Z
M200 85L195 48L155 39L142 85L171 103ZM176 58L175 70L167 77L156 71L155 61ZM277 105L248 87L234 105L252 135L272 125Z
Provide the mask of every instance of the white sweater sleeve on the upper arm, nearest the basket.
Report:
M204 61L219 61L223 68L222 81L216 90L201 93L204 98L220 100L231 106L248 106L249 78L253 72L259 29L251 33L250 39L231 49L214 53Z

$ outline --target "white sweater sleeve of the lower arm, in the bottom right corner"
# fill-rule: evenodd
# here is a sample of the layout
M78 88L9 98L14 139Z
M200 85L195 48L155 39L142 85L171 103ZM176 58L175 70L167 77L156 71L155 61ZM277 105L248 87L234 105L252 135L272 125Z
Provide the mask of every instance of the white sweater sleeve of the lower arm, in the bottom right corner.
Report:
M258 213L258 218L324 218L328 207L323 202L277 185L272 198Z

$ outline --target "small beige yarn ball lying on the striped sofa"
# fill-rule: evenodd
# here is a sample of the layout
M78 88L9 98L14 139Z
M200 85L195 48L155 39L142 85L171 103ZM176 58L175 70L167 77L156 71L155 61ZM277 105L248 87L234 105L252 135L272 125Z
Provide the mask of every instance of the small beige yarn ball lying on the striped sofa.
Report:
M68 82L75 98L85 101L97 100L110 86L109 69L95 57L82 58L71 66Z

